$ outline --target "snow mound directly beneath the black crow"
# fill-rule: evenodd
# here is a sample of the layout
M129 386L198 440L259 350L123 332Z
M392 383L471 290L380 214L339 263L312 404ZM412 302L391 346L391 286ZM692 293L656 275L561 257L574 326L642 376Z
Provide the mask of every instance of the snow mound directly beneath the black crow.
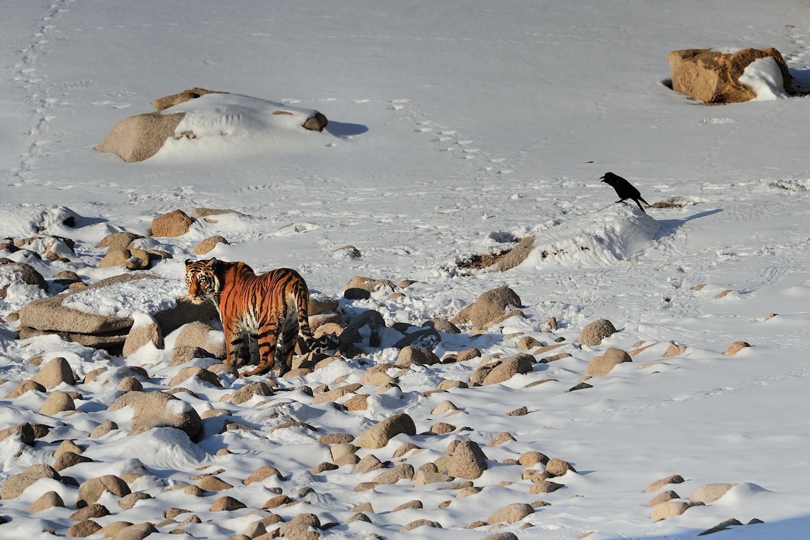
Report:
M661 224L626 204L614 204L539 234L523 268L605 266L637 257L655 242Z

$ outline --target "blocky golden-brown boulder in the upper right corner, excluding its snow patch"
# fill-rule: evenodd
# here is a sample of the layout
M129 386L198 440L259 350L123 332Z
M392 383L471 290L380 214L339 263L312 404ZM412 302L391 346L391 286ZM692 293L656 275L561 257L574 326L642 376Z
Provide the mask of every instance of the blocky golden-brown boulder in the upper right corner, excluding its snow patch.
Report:
M704 103L740 103L757 96L740 83L745 68L759 58L772 57L782 72L787 93L793 92L791 74L778 50L742 49L721 53L713 49L686 49L669 53L672 89Z

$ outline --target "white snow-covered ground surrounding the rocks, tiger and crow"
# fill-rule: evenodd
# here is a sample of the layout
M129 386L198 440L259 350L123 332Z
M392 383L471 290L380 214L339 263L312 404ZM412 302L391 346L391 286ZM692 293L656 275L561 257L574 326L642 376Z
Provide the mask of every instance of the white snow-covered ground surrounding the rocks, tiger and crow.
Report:
M258 519L248 508L225 517L209 512L222 494L196 499L182 490L163 491L189 482L203 466L224 469L218 476L237 486L225 494L249 508L275 496L267 487L309 502L274 508L285 521L313 512L322 523L343 524L353 514L349 508L371 502L374 512L366 513L373 523L339 525L323 531L324 538L364 538L368 532L483 538L489 527L465 527L505 504L536 500L551 505L501 530L521 539L578 538L591 531L594 540L693 538L728 518L747 523L756 517L765 524L717 538L806 538L810 166L804 135L810 101L705 107L664 84L670 50L748 46L777 48L794 82L810 88L810 11L797 0L744 0L733 9L699 0L4 0L0 239L51 234L76 244L72 263L38 261L23 251L0 257L31 264L49 280L51 293L62 290L53 283L60 270L74 270L88 283L125 271L96 268L104 250L95 245L110 232L147 235L151 219L177 208L232 208L241 214L218 215L216 223L198 219L184 236L159 239L157 249L174 258L150 272L177 279L179 289L182 261L196 257L192 250L200 240L221 235L230 244L219 244L211 256L246 261L260 271L295 268L310 289L340 298L345 313L377 309L389 325L452 318L482 292L505 285L518 293L527 318L510 318L500 332L477 338L469 328L442 334L436 354L477 347L484 356L514 355L518 338L502 336L522 332L544 344L563 337L567 345L560 352L572 356L536 364L504 384L428 398L420 392L435 389L441 379L465 380L480 359L415 368L399 377L401 391L362 390L372 394L368 409L352 412L312 404L303 392L279 393L275 402L292 402L280 408L272 402L252 408L259 398L223 404L220 398L245 382L227 375L222 389L184 383L197 398L178 398L199 413L226 407L231 421L258 427L220 435L219 424L207 423L207 436L193 444L167 429L128 437L131 414L105 410L120 394L113 388L130 374L125 365L144 364L151 377L144 387L166 389L181 368L168 367L176 334L167 337L164 351L107 358L55 337L18 341L15 322L0 324L0 378L8 381L0 396L38 371L29 362L37 356L62 356L81 378L110 368L106 378L75 388L84 398L77 406L81 414L55 419L36 413L45 393L2 401L0 429L23 421L64 425L33 447L13 437L0 441L0 482L32 464L51 465L56 441L70 439L94 460L65 470L79 481L143 472L133 458L146 467L148 474L130 487L155 499L124 511L104 495L109 497L100 502L112 515L98 518L101 525L157 523L165 508L187 508L202 521L181 527L195 538L228 538ZM769 73L760 67L752 74ZM93 151L117 121L150 112L151 100L194 86L317 109L329 125L300 140L276 134L238 149L239 134L219 143L170 141L133 164ZM198 142L206 146L194 147ZM634 205L612 205L616 194L599 182L607 171L625 176L650 203L679 206L643 215ZM62 224L68 216L75 227ZM473 254L501 251L530 235L535 249L521 266L505 273L458 269ZM44 256L40 244L28 248ZM339 249L347 244L362 257ZM0 287L15 279L15 271L0 273ZM386 300L387 292L343 300L343 287L356 275L418 283L395 300ZM140 308L164 301L145 293L98 300L96 308L127 314L143 310L128 300ZM0 299L0 317L44 294L11 285ZM83 310L92 310L93 301L92 295L75 298ZM765 321L769 313L778 315ZM541 332L548 317L559 321L554 334ZM598 347L570 345L599 318L620 332ZM737 340L753 347L724 356ZM658 344L634 356L633 364L588 381L594 388L565 393L590 358L607 347L631 351L636 342ZM668 342L687 349L664 359ZM377 363L393 362L399 351L364 352ZM642 368L662 359L664 364ZM210 364L198 359L193 365ZM358 360L335 362L279 383L334 388L339 376L359 381L363 368ZM524 388L548 378L556 382ZM433 415L445 399L463 415ZM529 414L502 416L519 406ZM274 418L276 410L283 412ZM317 436L356 435L399 412L411 415L417 433L438 421L471 431L399 436L385 449L358 455L392 460L399 444L410 440L425 449L408 454L417 468L441 457L455 438L483 446L509 432L516 440L484 447L493 461L474 482L484 489L466 498L440 491L441 484L405 481L354 491L379 471L309 473L330 459ZM87 438L109 420L122 430ZM290 420L319 432L270 432ZM215 455L224 446L232 454ZM559 479L565 484L559 491L528 495L525 467L504 460L530 450L561 457L578 474ZM243 487L241 481L262 465L277 467L287 479ZM705 483L739 485L713 504L653 521L646 504L655 494L644 488L670 474L686 482L666 489L684 498ZM300 495L303 487L313 493ZM51 490L67 508L47 516L25 512ZM0 525L0 537L48 538L45 529L65 534L75 497L75 487L40 480L19 500L0 501L0 516L10 521ZM416 499L424 508L390 512ZM440 508L446 500L452 503ZM444 529L399 533L423 518ZM526 523L534 526L520 529ZM149 538L176 538L168 531L179 526L162 527Z

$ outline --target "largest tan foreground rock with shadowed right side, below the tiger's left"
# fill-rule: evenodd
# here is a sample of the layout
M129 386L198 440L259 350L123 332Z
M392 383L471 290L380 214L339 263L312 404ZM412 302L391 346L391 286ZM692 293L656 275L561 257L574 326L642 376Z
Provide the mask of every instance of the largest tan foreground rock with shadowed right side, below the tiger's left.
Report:
M200 430L200 417L190 404L165 392L127 392L117 398L108 410L126 406L134 409L130 435L149 431L152 427L177 427L190 438Z

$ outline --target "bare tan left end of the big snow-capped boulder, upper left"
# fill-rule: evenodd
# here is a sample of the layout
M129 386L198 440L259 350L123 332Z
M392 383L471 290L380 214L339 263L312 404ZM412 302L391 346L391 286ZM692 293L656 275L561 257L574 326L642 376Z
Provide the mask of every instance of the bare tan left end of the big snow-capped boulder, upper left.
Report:
M112 152L127 163L143 161L157 154L166 139L174 137L185 113L146 113L126 118L96 145L94 150Z

